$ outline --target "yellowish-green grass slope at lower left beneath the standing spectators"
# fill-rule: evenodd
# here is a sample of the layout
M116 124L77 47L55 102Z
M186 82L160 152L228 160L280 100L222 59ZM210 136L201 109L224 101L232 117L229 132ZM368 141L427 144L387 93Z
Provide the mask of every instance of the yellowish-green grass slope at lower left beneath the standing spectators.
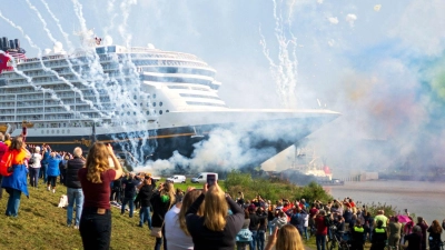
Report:
M83 249L79 230L67 227L67 210L58 208L66 187L59 186L56 193L29 187L29 199L22 194L18 218L4 216L9 194L3 191L0 200L0 249ZM120 216L111 208L111 249L152 249L155 238L148 226L139 228L139 213L134 218Z

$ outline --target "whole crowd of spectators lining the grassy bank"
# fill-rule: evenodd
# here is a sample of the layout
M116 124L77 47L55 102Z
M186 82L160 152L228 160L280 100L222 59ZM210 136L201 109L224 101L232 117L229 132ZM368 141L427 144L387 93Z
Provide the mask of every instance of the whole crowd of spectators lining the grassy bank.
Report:
M41 179L55 193L59 179L67 188L67 226L79 229L85 249L109 249L111 206L119 206L121 214L128 210L130 218L139 210L139 227L148 226L155 250L303 250L310 237L317 250L325 250L327 241L352 250L363 250L366 241L372 250L438 250L445 229L445 220L428 226L422 217L415 223L409 214L372 214L350 198L271 202L259 194L247 200L239 192L233 199L218 183L182 192L171 182L156 183L150 173L125 173L112 148L100 142L83 158L81 148L56 152L48 144L27 146L22 136L0 133L0 159L11 159L1 180L9 193L6 214L18 217L28 183L37 189Z

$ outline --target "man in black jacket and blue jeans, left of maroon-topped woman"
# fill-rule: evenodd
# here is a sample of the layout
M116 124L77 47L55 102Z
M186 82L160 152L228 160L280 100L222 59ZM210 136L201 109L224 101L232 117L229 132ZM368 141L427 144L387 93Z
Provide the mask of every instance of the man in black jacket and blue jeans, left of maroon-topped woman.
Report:
M75 158L68 160L66 170L67 196L68 196L68 208L67 208L67 226L71 227L72 223L72 210L76 203L76 220L75 229L79 229L80 214L82 214L83 207L83 192L82 186L80 184L78 173L85 166L85 159L82 158L82 149L75 148Z

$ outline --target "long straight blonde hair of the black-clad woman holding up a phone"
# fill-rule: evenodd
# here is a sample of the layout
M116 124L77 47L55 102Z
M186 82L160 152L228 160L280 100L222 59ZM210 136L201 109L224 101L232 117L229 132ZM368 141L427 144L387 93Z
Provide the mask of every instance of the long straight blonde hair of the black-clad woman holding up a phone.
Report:
M226 193L217 186L211 186L204 201L204 224L211 231L222 231L229 210Z

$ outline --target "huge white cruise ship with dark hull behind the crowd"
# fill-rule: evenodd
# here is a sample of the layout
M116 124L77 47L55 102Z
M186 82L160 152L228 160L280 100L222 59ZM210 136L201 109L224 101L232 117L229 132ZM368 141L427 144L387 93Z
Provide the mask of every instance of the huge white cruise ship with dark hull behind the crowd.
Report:
M253 149L267 149L256 164L339 116L323 109L231 109L218 97L216 70L194 54L110 39L85 43L72 52L56 46L27 58L18 39L0 39L1 132L14 137L26 127L28 143L60 151L88 149L98 140L146 161L175 151L192 157L197 143L220 128L243 134Z

